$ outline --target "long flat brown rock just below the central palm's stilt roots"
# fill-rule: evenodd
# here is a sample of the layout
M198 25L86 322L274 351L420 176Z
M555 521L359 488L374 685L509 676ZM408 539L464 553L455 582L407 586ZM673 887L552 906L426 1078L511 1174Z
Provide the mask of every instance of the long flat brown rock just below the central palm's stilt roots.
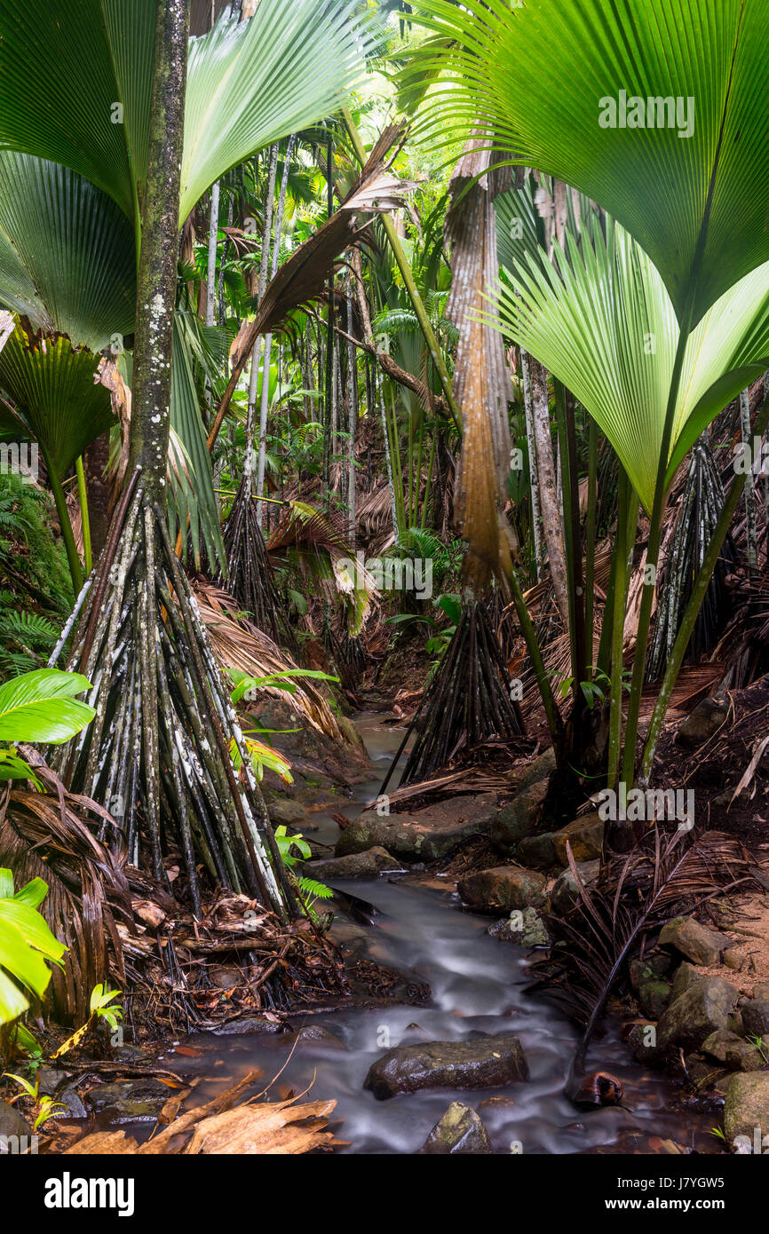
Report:
M488 835L496 816L497 796L481 792L404 814L364 810L339 835L335 853L347 856L380 847L407 861L436 861L472 835Z

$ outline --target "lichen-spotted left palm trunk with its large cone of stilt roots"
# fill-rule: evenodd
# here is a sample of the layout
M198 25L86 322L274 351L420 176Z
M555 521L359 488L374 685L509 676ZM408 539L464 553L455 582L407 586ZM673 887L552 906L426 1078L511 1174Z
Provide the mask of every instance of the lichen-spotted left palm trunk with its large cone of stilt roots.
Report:
M73 633L88 665L93 723L58 766L73 791L107 801L139 864L143 835L167 882L163 840L183 854L201 914L197 860L225 886L297 912L243 735L165 524L170 357L189 0L157 7L149 153L142 210L130 479ZM246 768L239 784L231 759Z

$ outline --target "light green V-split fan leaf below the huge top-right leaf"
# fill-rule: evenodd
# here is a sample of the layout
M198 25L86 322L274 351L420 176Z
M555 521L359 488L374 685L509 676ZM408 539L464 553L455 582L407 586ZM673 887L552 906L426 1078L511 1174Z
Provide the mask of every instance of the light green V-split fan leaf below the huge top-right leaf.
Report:
M494 320L494 318L493 318ZM647 511L679 327L659 273L628 233L597 220L591 242L509 271L499 318L597 421ZM769 263L746 275L689 337L668 460L670 481L713 416L769 364Z

